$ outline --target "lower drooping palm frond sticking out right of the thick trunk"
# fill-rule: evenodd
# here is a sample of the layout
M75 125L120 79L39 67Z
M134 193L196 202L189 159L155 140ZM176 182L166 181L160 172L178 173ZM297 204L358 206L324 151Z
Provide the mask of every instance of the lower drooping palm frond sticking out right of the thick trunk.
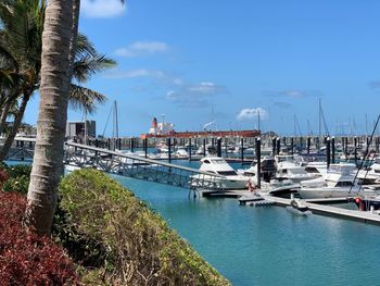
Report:
M73 84L71 86L68 102L74 110L83 110L91 114L96 111L97 105L103 104L106 100L104 95L89 88Z

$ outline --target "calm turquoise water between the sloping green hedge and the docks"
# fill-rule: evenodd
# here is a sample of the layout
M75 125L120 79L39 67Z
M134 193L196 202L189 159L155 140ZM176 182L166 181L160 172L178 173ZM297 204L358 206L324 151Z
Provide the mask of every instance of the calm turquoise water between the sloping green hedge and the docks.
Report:
M379 226L193 199L186 189L115 177L233 285L380 285Z

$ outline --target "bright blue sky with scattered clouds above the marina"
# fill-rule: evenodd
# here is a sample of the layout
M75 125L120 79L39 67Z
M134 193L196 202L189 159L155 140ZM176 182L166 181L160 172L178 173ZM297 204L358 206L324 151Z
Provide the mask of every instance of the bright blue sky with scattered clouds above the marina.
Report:
M113 100L123 136L165 114L176 130L257 127L364 133L380 113L380 1L81 0L79 29L118 62L87 87ZM26 122L36 122L38 97ZM69 120L81 120L69 111ZM307 124L308 123L308 124ZM308 127L309 125L309 127ZM106 134L111 134L107 126Z

